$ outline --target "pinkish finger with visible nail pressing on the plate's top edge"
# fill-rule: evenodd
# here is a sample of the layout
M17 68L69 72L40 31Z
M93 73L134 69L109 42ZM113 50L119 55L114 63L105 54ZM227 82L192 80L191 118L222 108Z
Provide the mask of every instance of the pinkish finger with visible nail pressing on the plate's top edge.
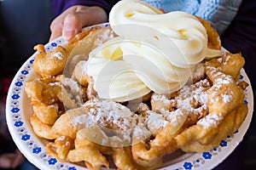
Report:
M79 14L67 14L63 23L62 36L64 39L70 40L81 31L82 26Z

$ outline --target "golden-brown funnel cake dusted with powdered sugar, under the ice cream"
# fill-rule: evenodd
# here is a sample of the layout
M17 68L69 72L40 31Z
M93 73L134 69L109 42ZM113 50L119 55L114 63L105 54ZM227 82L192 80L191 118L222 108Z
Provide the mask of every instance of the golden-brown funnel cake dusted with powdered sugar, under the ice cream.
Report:
M209 48L220 49L217 32L199 20L207 29ZM119 169L154 169L166 154L210 150L241 126L248 86L239 80L245 63L241 54L223 51L202 60L191 81L172 94L151 91L142 99L116 102L101 99L84 70L90 51L113 37L110 26L96 26L53 52L37 46L36 60L56 59L63 51L73 59L51 63L53 71L44 60L37 61L33 68L41 77L26 82L34 111L30 122L39 138L49 140L49 155L90 169L109 168L109 159Z

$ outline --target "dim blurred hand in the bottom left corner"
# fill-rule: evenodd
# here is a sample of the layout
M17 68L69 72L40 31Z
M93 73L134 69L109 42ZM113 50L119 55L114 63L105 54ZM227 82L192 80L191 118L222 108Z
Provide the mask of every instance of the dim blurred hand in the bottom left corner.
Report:
M25 161L24 156L20 153L20 150L16 150L15 153L6 153L0 156L0 168L16 168Z

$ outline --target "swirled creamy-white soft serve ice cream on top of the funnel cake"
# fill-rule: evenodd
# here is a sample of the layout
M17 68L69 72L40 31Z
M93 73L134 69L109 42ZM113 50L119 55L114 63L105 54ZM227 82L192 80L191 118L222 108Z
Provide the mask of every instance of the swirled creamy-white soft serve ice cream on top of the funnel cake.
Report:
M118 37L93 50L86 65L102 99L172 94L196 64L220 54L207 48L205 27L185 12L163 14L148 3L125 0L113 6L109 23Z

